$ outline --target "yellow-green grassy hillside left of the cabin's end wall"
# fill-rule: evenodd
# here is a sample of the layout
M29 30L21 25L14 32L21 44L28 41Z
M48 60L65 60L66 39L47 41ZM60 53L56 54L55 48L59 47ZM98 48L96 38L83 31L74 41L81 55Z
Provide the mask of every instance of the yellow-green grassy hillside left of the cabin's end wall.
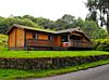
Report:
M0 34L0 50L5 50L8 46L8 36Z

